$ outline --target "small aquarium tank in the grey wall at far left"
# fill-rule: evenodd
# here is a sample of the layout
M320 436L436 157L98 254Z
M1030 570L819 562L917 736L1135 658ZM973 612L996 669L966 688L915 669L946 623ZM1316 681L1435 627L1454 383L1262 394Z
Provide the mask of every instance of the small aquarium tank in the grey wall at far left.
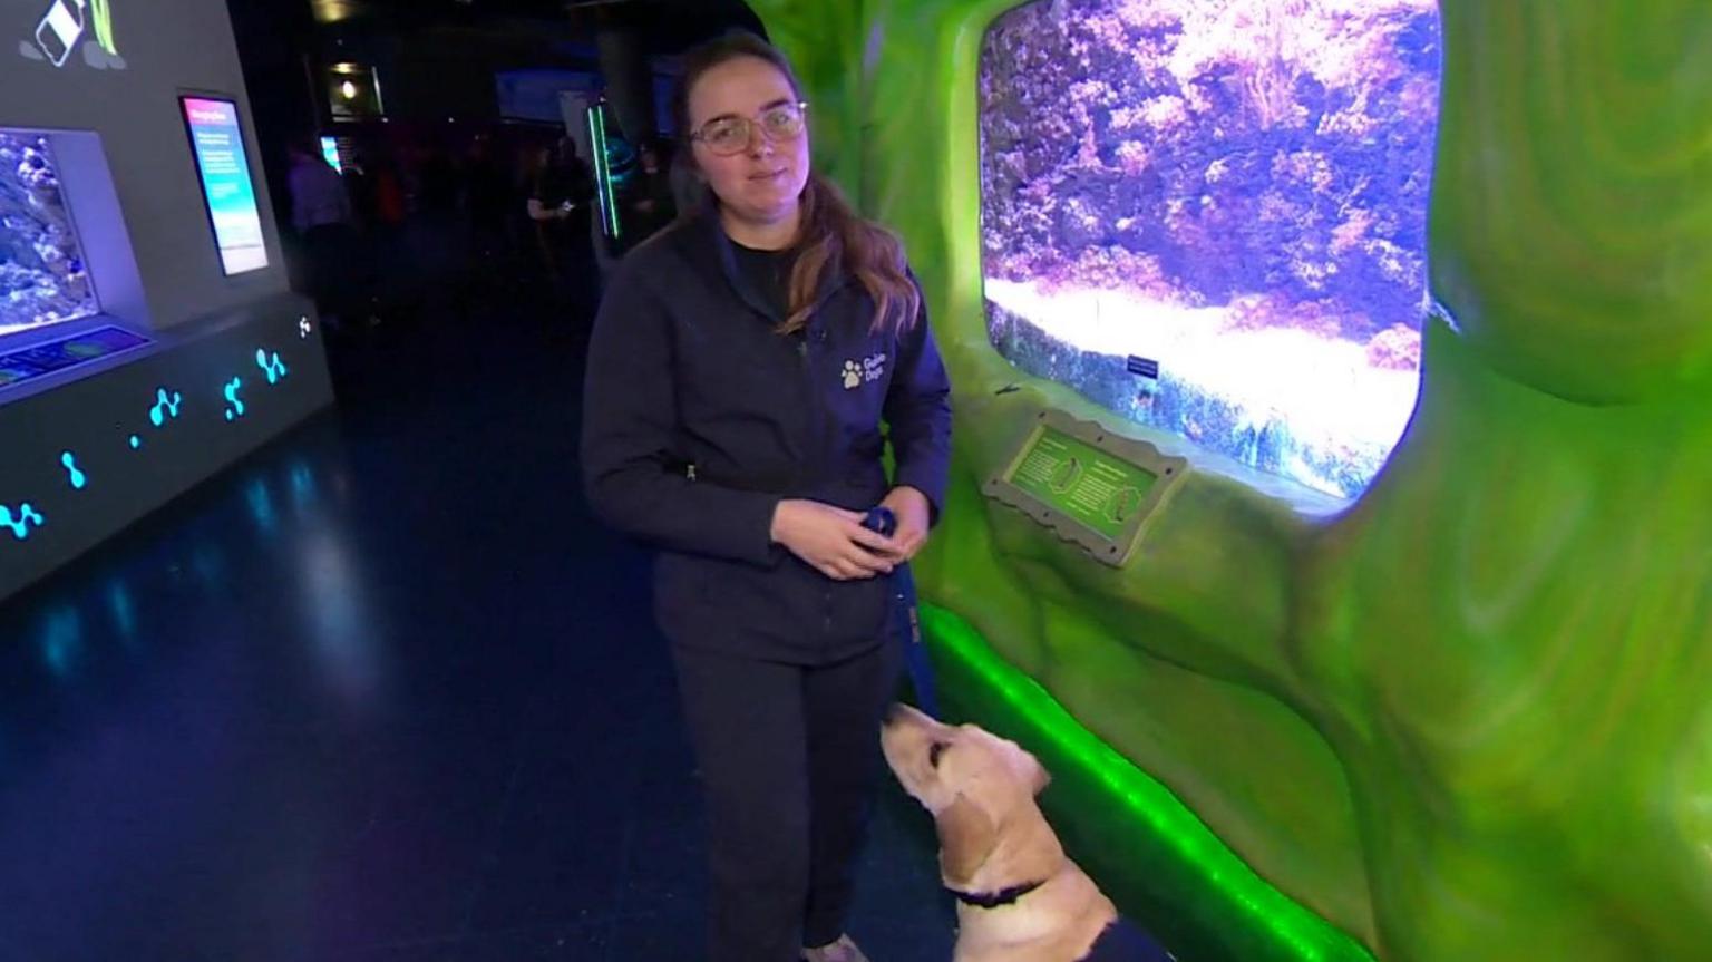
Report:
M48 137L0 128L0 336L96 310Z

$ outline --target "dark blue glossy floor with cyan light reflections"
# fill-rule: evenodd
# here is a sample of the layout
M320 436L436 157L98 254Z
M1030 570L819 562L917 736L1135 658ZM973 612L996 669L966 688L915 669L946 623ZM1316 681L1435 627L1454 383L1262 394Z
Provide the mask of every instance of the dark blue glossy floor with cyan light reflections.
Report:
M645 561L586 514L544 313L366 332L337 413L0 606L0 962L700 955ZM943 962L887 791L853 929Z

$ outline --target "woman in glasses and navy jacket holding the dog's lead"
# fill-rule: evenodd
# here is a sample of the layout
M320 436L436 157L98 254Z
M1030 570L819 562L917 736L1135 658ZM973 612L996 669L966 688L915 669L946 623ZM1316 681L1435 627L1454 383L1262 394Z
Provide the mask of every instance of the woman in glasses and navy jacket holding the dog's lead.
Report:
M625 258L589 347L587 493L659 549L714 962L863 959L844 921L902 659L894 573L950 452L921 293L897 240L810 171L805 110L753 36L685 58L678 130L707 200ZM861 524L875 505L890 537Z

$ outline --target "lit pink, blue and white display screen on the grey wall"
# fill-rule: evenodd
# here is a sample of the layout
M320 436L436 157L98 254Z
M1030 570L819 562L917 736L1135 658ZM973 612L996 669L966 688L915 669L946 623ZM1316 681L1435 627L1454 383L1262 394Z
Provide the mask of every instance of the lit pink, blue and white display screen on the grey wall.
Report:
M190 144L202 178L202 199L228 276L267 267L262 214L255 204L250 159L243 149L238 104L226 99L180 98Z

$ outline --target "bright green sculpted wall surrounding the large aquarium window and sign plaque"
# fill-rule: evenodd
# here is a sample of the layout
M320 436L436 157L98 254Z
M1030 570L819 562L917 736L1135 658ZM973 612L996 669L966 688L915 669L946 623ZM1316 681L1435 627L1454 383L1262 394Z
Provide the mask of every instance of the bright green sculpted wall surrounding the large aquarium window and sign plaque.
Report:
M1380 959L1712 957L1712 5L1443 0L1455 327L1428 324L1414 421L1337 514L988 344L976 67L1014 0L752 5L952 366L919 563L945 618ZM981 495L1041 407L1202 466L1126 568Z

